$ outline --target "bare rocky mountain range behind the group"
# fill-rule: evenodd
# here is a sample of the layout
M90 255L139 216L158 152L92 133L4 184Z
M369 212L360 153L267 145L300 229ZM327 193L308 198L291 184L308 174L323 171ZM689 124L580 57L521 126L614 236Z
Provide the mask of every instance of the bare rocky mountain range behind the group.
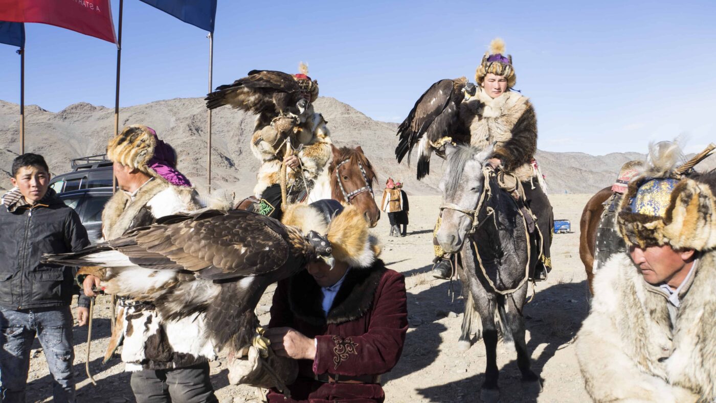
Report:
M337 99L321 97L314 107L323 114L337 146L362 146L378 172L382 189L387 176L400 179L410 194L438 194L442 160L435 157L431 174L415 179L415 166L397 164L393 151L397 144L397 124L374 121ZM57 113L39 106L25 107L25 150L42 154L53 174L69 170L69 159L102 154L112 135L114 109L80 102ZM167 99L120 110L120 128L145 124L160 139L172 144L180 154L179 169L200 189L207 189L207 112L200 98ZM254 116L223 107L212 115L212 189L230 189L237 196L251 194L256 184L258 161L248 141ZM646 146L646 144L644 144ZM0 187L8 189L12 159L19 152L19 106L0 101ZM584 153L538 151L537 159L546 175L548 193L594 193L611 184L621 164L642 159L634 152L591 156ZM710 157L701 169L716 166ZM711 161L709 161L711 160Z

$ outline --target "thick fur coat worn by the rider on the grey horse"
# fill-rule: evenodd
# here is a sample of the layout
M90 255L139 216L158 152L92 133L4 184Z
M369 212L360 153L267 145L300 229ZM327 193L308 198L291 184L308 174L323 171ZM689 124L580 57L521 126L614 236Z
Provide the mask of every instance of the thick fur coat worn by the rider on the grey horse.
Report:
M470 130L470 144L484 149L495 143L495 157L520 181L533 175L537 151L537 116L526 96L508 91L495 99L478 87L478 96L460 104L460 119Z

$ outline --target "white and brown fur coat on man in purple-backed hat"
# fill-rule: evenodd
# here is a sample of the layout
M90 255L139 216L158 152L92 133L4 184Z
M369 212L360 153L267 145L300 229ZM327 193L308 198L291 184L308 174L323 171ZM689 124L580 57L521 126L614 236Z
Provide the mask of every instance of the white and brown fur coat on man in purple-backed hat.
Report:
M143 185L132 201L125 191L117 191L102 212L102 235L115 239L128 229L152 224L155 219L199 209L194 189L154 178ZM206 337L203 314L179 321L164 322L151 304L125 307L120 302L117 327L108 353L121 338L122 362L127 371L189 367L216 359L213 343Z

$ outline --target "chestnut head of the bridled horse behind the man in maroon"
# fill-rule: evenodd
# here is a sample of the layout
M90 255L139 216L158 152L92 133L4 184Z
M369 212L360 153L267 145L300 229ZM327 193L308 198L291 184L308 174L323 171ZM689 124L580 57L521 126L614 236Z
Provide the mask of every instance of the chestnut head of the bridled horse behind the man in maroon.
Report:
M380 219L380 209L375 204L373 182L375 171L361 146L333 149L333 160L328 167L331 199L354 204L375 227ZM312 196L312 195L311 195Z

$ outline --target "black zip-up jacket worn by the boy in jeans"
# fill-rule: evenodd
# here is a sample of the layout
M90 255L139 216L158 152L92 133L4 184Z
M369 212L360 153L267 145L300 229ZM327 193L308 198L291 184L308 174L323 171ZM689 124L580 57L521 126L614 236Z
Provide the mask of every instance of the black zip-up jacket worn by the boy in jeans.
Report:
M0 306L7 309L69 305L79 287L76 268L41 264L42 254L77 252L89 246L73 209L57 196L9 212L0 205ZM89 306L81 297L79 306Z

